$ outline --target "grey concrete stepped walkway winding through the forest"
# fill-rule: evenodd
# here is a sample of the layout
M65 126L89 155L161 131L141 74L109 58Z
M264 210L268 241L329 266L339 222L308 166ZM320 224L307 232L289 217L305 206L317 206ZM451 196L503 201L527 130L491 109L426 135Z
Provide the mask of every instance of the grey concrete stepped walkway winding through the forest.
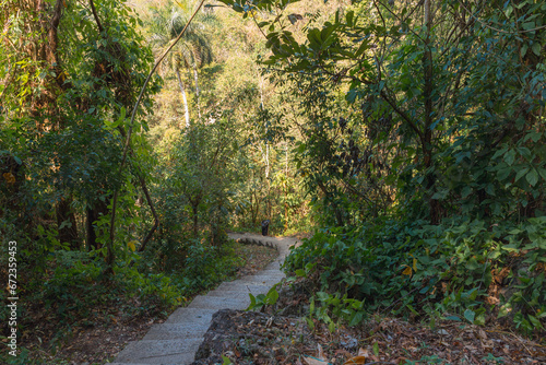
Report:
M248 293L265 294L284 278L280 270L297 239L263 237L253 234L229 234L229 238L276 248L278 257L256 275L222 283L206 295L197 296L188 307L178 308L161 325L153 326L141 341L129 342L114 364L116 365L180 365L193 362L212 315L219 309L246 309Z

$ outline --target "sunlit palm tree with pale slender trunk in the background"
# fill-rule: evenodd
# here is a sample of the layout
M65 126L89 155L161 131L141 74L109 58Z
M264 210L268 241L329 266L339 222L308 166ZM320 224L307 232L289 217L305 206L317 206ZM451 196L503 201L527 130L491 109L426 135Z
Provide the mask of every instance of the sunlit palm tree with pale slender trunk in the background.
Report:
M166 7L162 9L152 9L152 16L149 22L152 35L149 40L157 55L163 54L170 43L178 37L191 16L192 8L193 4L191 0L177 2L176 5L169 0ZM165 11L163 9L168 10ZM186 95L186 85L180 78L180 70L186 69L189 72L191 72L191 70L193 71L197 107L199 117L201 118L198 68L212 62L212 50L209 39L206 38L205 28L207 25L214 24L215 21L215 16L210 13L199 13L190 23L188 30L186 30L182 39L180 39L168 55L167 66L175 71L178 86L182 94L187 127L190 126L190 113Z

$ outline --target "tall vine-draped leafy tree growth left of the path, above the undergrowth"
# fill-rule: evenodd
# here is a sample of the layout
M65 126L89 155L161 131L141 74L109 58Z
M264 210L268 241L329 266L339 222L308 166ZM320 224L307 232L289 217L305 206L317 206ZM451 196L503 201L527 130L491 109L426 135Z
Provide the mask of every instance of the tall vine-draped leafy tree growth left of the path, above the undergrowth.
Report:
M41 237L46 249L73 242L73 248L81 247L78 213L86 220L87 246L98 247L104 228L97 220L108 213L112 188L130 176L116 174L120 134L152 52L130 26L136 19L115 1L97 7L92 0L5 1L1 7L1 42L9 47L0 50L8 64L0 71L7 92L0 140L15 137L5 150L25 166L26 196L20 200L27 209L20 215L29 221L25 234ZM150 110L157 86L154 79L139 115ZM56 217L55 226L48 216Z

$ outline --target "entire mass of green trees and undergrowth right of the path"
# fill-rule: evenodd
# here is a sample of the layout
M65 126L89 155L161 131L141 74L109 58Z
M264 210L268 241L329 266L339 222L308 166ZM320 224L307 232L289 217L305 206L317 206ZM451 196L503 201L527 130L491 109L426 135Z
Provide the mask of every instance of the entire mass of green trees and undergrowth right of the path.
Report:
M297 33L293 3L223 2L276 12L257 23L262 64L294 98L298 173L328 227L288 268L322 302L543 330L544 4L354 3Z

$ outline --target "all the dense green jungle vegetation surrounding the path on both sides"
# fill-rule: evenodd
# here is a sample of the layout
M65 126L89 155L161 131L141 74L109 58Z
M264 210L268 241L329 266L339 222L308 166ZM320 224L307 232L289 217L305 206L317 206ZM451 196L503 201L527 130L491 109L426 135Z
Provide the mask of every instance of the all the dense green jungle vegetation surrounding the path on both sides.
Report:
M0 20L19 333L169 310L240 263L228 229L269 219L312 233L286 269L332 328L544 339L543 1L1 0Z

